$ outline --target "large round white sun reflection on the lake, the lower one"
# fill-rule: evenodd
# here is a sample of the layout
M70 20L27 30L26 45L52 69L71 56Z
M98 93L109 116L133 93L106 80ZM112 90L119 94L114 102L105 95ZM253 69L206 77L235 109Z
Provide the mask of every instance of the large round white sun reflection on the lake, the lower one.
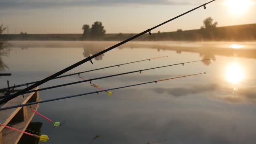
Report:
M240 83L245 78L245 71L239 63L233 62L226 68L225 78L229 83Z

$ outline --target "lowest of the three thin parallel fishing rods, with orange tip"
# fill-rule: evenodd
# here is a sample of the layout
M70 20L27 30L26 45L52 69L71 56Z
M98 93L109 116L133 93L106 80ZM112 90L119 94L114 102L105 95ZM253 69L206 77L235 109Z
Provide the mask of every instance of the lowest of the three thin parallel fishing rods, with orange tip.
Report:
M33 104L41 104L41 103L50 102L50 101L57 101L57 100L61 100L61 99L69 99L69 98L78 97L78 96L85 96L85 95L89 95L89 94L93 94L93 93L97 93L99 95L99 93L105 92L105 91L112 91L112 90L117 90L117 89L121 89L121 88L129 88L129 87L134 87L134 86L138 86L138 85L146 85L146 84L149 84L149 83L158 83L158 82L162 82L162 81L166 81L166 80L173 80L173 79L178 79L178 78L181 78L181 77L190 77L190 76L201 75L201 74L206 74L206 73L202 72L202 73L197 73L197 74L193 74L193 75L184 75L184 76L180 76L180 77L172 77L172 78L163 79L163 80L151 81L151 82L147 82L147 83L139 83L139 84L135 84L135 85L127 85L127 86L122 86L122 87L118 87L118 88L110 88L110 89L103 90L103 91L93 91L93 92L89 92L89 93L82 93L82 94L77 94L77 95L72 95L72 96L65 96L65 97L60 97L60 98L55 98L55 99L48 99L48 100L44 100L44 101L29 102L29 103L26 103L26 104L19 104L19 105L11 106L11 107L2 107L2 108L0 108L0 111L1 110L6 110L6 109L14 109L14 108L17 108L17 107L30 106L30 105L33 105Z

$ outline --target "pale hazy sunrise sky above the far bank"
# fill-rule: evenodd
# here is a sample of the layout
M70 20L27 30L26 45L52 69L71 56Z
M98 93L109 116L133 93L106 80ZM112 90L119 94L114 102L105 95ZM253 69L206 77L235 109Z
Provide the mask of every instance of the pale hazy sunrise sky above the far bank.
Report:
M138 33L209 0L0 0L0 24L10 34L82 33L101 21L107 33ZM152 32L199 29L211 16L218 27L256 23L256 0L216 0ZM7 33L7 31L5 32Z

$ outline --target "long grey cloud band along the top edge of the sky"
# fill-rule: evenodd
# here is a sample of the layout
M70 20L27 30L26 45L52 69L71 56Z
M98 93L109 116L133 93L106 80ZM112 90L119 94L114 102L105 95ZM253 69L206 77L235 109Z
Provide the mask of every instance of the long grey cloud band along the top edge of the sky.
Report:
M45 8L59 6L189 5L176 0L1 0L0 8Z

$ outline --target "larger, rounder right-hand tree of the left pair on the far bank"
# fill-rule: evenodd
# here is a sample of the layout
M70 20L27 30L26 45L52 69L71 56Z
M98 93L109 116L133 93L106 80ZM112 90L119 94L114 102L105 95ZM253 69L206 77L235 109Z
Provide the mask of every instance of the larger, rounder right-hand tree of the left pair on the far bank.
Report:
M100 21L95 21L94 24L91 26L91 32L90 35L92 38L100 38L104 36L106 33L106 30L102 26L102 23Z

